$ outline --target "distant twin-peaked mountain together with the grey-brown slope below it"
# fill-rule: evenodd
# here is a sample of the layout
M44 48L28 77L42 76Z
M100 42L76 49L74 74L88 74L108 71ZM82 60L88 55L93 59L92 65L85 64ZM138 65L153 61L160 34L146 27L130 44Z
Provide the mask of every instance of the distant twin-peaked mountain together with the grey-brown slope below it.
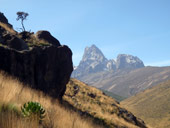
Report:
M116 61L108 60L92 45L85 49L72 77L119 96L130 97L170 79L170 67L145 67L138 57L127 54L119 54Z

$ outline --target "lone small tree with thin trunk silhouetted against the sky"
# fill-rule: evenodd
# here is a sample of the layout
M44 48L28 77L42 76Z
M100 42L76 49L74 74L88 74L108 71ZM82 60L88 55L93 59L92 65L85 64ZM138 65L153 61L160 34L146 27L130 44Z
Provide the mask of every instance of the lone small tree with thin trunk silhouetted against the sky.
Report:
M25 31L25 27L24 27L24 20L26 20L27 16L29 15L26 12L17 12L17 21L21 19L21 25L22 25L22 30Z

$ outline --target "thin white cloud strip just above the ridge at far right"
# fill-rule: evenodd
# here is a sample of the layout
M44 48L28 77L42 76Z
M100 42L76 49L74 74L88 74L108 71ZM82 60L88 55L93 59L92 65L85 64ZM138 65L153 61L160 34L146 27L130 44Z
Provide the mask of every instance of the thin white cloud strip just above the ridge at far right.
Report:
M146 63L146 66L170 66L170 60Z

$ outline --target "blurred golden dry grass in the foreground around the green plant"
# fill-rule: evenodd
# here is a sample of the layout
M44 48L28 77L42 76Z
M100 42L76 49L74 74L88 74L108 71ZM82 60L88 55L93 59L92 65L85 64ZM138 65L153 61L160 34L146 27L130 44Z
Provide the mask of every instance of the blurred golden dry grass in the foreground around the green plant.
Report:
M80 117L42 92L22 86L17 80L0 73L0 105L12 104L18 109L28 101L39 102L46 110L46 128L102 128ZM24 120L12 112L0 112L0 128L40 128L35 120Z

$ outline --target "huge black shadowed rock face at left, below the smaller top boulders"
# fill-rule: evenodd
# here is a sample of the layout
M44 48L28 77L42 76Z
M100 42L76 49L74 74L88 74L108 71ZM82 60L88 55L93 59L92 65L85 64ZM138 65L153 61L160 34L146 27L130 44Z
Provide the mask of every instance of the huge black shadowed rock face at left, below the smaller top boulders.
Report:
M67 46L35 47L25 51L0 47L0 70L61 99L73 70L72 52Z

